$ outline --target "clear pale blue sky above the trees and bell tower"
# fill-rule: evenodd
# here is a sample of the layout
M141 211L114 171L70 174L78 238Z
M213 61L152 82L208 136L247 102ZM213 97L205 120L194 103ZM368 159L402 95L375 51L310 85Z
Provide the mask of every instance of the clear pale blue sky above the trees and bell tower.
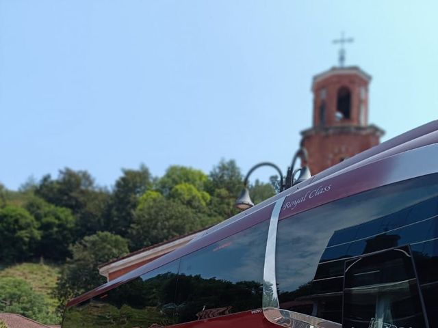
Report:
M311 78L373 77L383 141L438 113L436 1L0 0L0 182L58 169L111 187L144 163L286 170L311 126ZM274 174L261 169L258 177Z

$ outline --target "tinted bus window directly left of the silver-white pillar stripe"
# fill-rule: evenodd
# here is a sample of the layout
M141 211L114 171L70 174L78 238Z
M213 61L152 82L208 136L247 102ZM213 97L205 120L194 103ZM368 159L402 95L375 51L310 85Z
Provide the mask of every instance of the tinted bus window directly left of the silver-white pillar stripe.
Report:
M177 322L261 308L269 221L181 258Z

